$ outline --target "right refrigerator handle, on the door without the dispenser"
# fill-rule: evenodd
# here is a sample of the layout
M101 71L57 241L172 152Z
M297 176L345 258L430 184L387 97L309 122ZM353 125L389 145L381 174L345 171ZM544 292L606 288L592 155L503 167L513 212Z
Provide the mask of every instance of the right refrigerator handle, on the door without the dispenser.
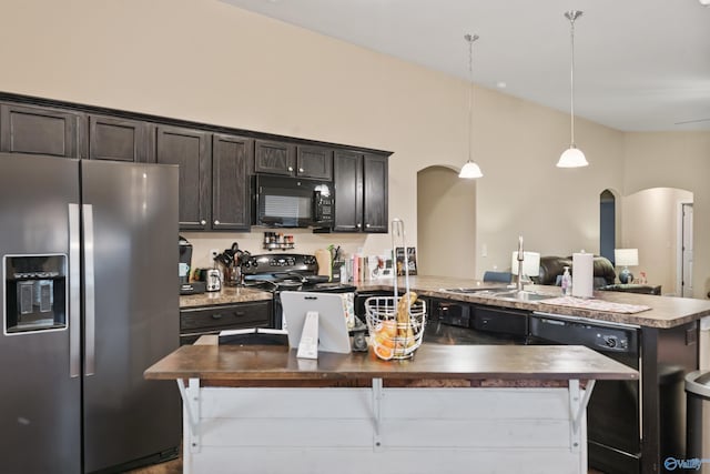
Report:
M84 221L84 375L95 371L95 295L93 269L93 206L82 204Z

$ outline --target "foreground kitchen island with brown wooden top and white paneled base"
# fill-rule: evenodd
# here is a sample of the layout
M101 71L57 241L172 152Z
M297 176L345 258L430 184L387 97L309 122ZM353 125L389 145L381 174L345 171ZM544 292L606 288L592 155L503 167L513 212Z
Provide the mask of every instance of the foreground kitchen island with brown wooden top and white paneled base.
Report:
M580 346L424 344L385 362L197 344L145 377L179 383L185 473L586 473L595 381L638 372Z

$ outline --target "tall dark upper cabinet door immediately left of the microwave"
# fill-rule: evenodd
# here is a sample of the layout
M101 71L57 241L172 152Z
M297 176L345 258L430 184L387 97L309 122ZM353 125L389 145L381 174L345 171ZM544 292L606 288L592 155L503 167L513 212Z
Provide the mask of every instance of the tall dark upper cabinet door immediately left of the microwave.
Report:
M251 194L246 165L253 158L253 140L236 135L213 137L212 229L250 229Z

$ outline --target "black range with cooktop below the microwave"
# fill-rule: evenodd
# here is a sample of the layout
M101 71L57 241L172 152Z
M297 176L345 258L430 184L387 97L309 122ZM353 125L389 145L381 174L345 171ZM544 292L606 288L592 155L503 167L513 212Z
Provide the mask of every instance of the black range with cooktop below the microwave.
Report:
M282 291L317 291L344 293L353 297L356 288L332 283L318 275L318 263L314 255L298 253L251 255L242 263L245 286L256 286L274 295L274 327L283 329Z

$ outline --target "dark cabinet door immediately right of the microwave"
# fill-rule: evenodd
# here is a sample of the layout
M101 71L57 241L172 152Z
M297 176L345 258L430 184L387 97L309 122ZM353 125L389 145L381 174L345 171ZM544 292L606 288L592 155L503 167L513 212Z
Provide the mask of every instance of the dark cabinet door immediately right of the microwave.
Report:
M336 151L333 161L335 186L335 219L333 230L358 232L363 223L363 161L362 154Z

